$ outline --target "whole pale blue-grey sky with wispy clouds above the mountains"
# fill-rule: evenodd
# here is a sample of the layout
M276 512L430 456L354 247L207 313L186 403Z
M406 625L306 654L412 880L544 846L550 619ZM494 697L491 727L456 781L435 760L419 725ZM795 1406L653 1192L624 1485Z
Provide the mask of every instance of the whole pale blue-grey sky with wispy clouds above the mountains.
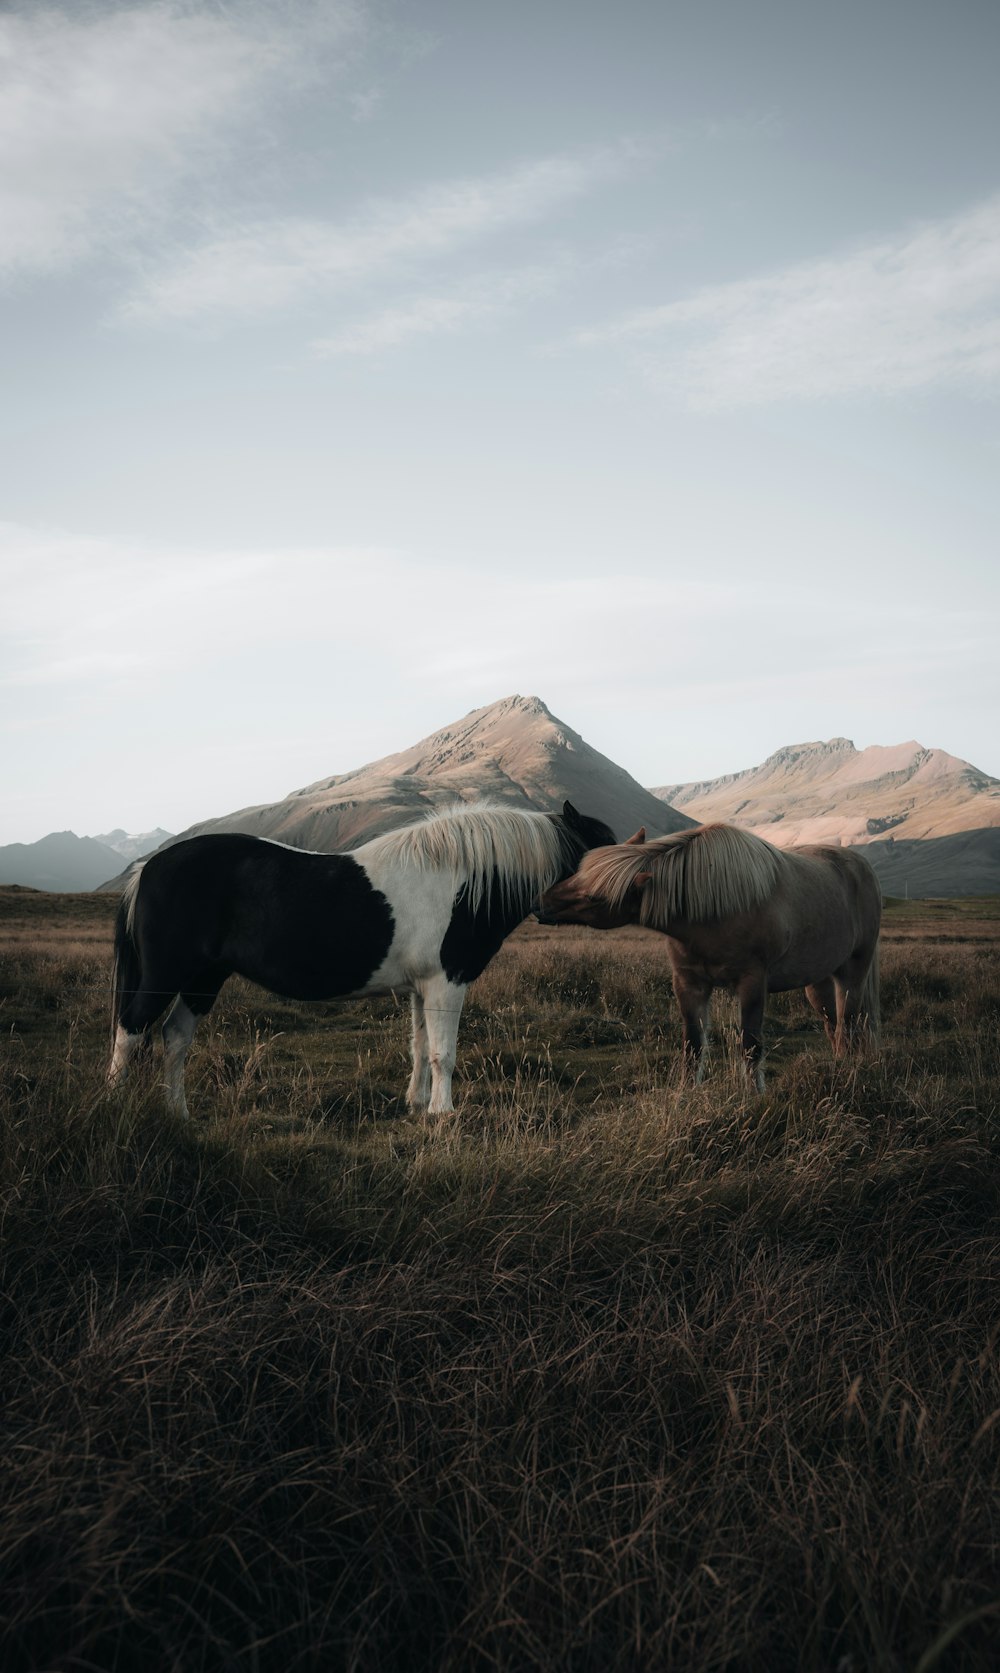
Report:
M1000 776L995 0L0 3L0 843L512 693Z

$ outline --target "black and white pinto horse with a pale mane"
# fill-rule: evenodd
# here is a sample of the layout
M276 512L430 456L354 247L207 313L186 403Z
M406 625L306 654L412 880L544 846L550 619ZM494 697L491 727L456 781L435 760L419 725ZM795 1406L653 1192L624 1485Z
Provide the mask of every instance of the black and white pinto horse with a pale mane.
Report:
M135 867L115 923L114 1084L164 1019L167 1103L187 1114L184 1059L229 975L289 999L410 994L406 1101L452 1109L465 989L589 848L600 820L485 803L431 813L351 853L259 836L189 836Z

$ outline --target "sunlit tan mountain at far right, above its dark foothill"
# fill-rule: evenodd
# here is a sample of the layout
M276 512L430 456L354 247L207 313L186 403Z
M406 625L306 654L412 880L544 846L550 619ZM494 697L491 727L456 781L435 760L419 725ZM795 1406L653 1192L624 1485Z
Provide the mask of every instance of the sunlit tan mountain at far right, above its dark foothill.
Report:
M1000 780L918 743L855 750L848 738L798 743L761 766L652 791L692 818L746 825L769 842L846 847L953 836L1000 826Z

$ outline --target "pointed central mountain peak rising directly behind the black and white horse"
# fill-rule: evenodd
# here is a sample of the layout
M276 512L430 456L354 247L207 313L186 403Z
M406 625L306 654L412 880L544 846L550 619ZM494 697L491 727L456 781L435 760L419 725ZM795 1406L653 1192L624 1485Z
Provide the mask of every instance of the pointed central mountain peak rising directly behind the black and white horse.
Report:
M540 698L502 698L398 755L321 778L283 801L239 808L184 831L249 831L301 848L355 848L378 831L452 801L559 811L565 800L630 836L639 825L664 836L696 821L652 796L592 750Z

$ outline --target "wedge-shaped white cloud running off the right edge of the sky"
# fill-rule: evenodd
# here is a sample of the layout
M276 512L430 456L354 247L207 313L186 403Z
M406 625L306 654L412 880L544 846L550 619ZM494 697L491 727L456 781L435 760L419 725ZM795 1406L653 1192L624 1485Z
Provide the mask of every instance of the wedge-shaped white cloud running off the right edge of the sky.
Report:
M704 410L987 388L1000 376L1000 197L629 315L582 341L640 345L647 375Z

